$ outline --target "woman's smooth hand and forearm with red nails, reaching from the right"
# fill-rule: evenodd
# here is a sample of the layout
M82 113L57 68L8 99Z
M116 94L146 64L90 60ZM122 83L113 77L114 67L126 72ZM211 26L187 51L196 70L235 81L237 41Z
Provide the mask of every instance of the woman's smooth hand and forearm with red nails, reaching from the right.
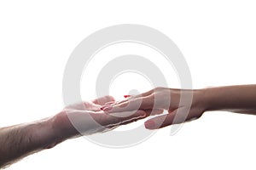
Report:
M182 95L183 100L181 100ZM118 103L102 106L102 110L108 113L148 109L168 111L166 115L156 116L145 122L145 127L148 129L195 120L206 111L231 111L256 115L256 85L196 90L154 88Z

